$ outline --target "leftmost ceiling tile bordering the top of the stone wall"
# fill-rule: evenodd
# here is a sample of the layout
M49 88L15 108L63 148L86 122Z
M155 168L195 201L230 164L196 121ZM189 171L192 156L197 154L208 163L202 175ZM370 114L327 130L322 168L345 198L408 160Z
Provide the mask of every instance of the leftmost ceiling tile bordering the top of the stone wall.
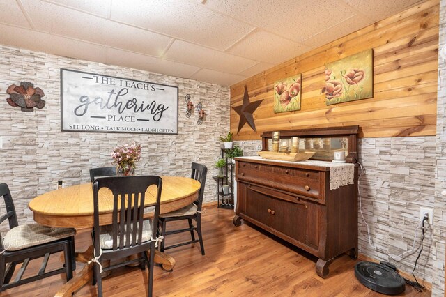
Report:
M33 42L30 43L29 40ZM3 24L0 24L0 44L105 63L105 52L102 46Z

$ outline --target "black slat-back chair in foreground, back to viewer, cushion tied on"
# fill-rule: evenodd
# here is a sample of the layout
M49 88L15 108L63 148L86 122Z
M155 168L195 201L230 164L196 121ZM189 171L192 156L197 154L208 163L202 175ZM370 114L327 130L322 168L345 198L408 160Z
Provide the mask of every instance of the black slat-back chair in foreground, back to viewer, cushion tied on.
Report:
M149 186L157 186L155 216L144 220L144 203ZM99 224L99 195L101 188L112 191L114 199L113 223L107 226ZM141 262L141 269L146 264L148 274L148 296L153 291L153 259L155 245L162 238L156 238L156 227L160 214L162 179L159 176L107 176L97 178L93 183L94 227L93 245L95 258L94 278L98 284L98 296L102 296L102 271ZM156 239L155 239L156 238ZM150 250L150 259L147 252ZM124 261L102 269L100 261L121 259L132 254L139 254L138 259Z

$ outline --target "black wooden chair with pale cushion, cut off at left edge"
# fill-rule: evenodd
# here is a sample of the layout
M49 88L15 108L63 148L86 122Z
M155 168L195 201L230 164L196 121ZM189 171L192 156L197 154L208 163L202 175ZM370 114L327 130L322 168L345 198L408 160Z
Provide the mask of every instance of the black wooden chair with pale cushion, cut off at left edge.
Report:
M0 195L3 197L6 213L0 217L0 224L6 219L9 231L4 238L0 236L0 292L9 288L27 284L45 277L66 273L67 281L72 278L76 269L75 234L73 228L52 228L40 224L23 224L17 222L13 198L6 183L0 183ZM55 252L63 252L64 267L45 272L49 256ZM37 275L22 279L29 261L43 257L43 263ZM22 264L13 277L15 266Z

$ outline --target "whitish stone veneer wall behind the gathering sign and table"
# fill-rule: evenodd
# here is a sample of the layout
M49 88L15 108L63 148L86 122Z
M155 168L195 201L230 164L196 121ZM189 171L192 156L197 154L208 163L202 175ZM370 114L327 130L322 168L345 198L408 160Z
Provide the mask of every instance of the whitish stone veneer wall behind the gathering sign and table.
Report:
M178 135L61 132L60 68L178 86ZM6 89L22 81L43 89L43 109L25 113L8 105ZM197 112L186 118L186 94L203 104L202 125ZM229 130L229 96L227 86L0 45L0 181L10 186L20 223L33 221L33 197L54 190L58 180L89 182L91 167L111 166L112 149L133 141L143 146L137 174L190 176L190 163L200 162L209 169L204 200L216 200L211 176L220 156L218 137Z

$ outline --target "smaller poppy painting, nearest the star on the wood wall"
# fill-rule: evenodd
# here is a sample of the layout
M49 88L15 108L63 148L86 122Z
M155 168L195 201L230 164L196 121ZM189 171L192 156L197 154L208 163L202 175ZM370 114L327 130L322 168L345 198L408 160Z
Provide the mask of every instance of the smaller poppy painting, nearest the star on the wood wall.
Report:
M300 110L302 75L279 80L274 84L274 112Z

